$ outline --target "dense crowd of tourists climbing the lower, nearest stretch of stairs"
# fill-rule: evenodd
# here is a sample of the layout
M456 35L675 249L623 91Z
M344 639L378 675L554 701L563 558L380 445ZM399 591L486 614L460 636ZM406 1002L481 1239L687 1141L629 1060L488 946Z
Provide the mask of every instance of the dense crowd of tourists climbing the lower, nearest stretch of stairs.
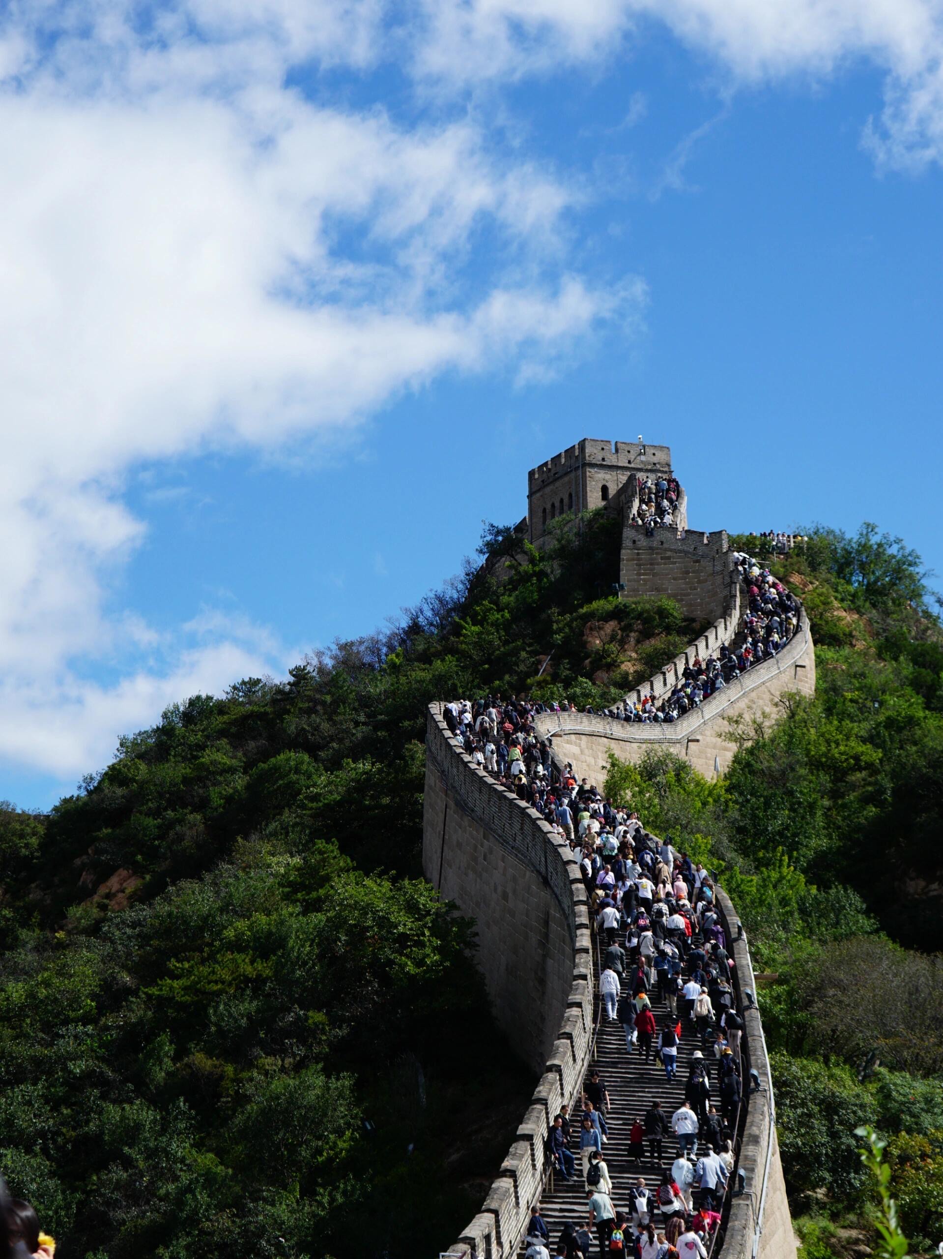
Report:
M761 606L762 594L761 582ZM587 1216L567 1224L553 1254L586 1259L596 1244L604 1259L630 1251L635 1259L704 1259L733 1168L742 1097L743 1020L714 884L700 862L649 833L635 812L615 807L586 778L577 782L571 765L554 763L533 728L544 710L489 696L446 704L444 718L464 750L532 805L578 856L600 942L601 1017L621 1025L626 1053L650 1065L654 1084L661 1071L675 1079L681 1041L698 1045L683 1105L668 1114L653 1099L631 1126L629 1157L660 1168L655 1190L640 1176L629 1201L614 1201L605 1152L609 1093L598 1073L585 1085L578 1115L561 1107L547 1153L562 1180L582 1178ZM660 1025L653 997L666 1008ZM551 1259L549 1243L534 1207L531 1259Z

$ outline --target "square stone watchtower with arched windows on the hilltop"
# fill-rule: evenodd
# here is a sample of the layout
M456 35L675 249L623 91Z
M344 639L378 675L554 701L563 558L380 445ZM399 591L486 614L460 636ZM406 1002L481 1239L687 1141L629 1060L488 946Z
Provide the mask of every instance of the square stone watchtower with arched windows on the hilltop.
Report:
M668 446L585 437L527 473L528 541L539 546L557 516L578 516L614 504L632 472L642 477L670 471Z

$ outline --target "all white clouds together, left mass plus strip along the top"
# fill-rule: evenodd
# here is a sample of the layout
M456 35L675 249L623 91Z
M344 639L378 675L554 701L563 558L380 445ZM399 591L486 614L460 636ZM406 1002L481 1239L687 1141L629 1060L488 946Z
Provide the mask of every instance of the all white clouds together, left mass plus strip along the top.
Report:
M5 6L0 757L80 771L167 697L280 667L275 640L231 619L157 633L114 606L147 533L136 468L288 458L439 374L546 380L637 331L644 282L580 272L586 185L503 140L479 102L561 67L598 76L653 21L728 96L878 67L863 136L878 166L943 160L938 0L158 0L147 21L132 0ZM371 98L385 64L421 121ZM365 104L311 94L333 67L363 77ZM620 130L645 110L632 96ZM723 116L680 141L653 199L692 186ZM121 681L91 681L99 663Z

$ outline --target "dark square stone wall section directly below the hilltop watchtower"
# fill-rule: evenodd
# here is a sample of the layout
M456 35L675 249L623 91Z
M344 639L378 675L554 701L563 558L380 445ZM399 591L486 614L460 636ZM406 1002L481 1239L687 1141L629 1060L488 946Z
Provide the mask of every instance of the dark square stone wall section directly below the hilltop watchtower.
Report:
M631 525L629 519L626 514L620 555L622 598L666 594L685 616L708 621L722 616L737 579L725 530L656 529L646 538L644 526Z

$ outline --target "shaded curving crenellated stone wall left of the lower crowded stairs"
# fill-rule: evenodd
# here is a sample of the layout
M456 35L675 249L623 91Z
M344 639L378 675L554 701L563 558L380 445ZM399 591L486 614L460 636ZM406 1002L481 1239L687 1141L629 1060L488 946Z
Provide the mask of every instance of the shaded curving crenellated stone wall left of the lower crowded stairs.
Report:
M539 1079L482 1210L445 1249L508 1259L539 1200L544 1142L575 1102L592 1044L590 923L580 867L549 826L500 787L429 708L422 869L478 923L478 961L494 1013Z

